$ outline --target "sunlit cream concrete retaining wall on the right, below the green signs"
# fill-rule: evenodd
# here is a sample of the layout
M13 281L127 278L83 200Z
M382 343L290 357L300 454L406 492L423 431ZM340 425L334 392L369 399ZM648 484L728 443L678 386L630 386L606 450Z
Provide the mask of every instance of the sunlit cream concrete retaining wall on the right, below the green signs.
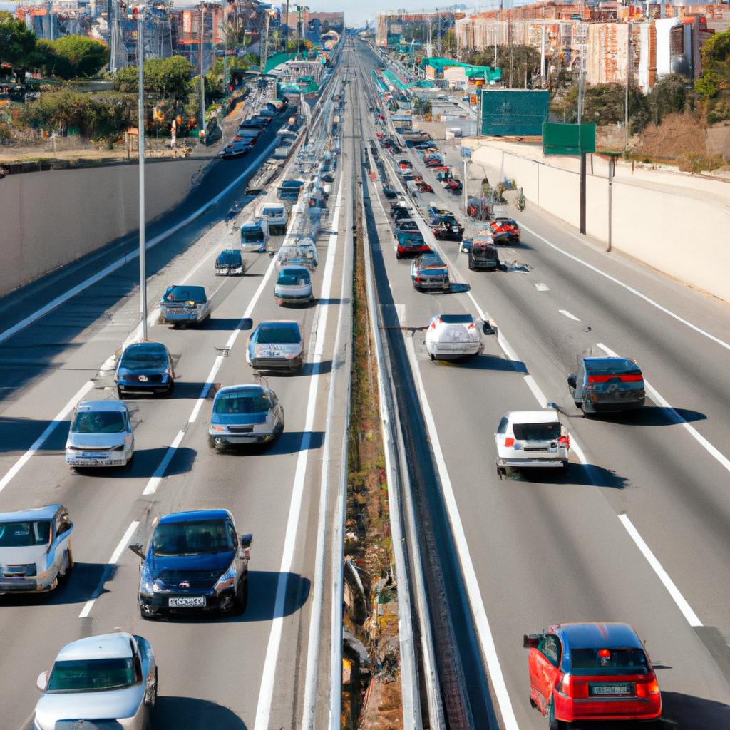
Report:
M536 158L541 155L534 151L530 157L523 156L505 149L504 143L470 140L469 146L475 163L502 170L523 188L529 202L579 227L580 177L574 170L564 169L565 160L558 158L553 166L552 158ZM588 170L590 173L590 166ZM707 184L702 179L697 182L698 190ZM685 185L691 185L691 180ZM612 187L615 250L730 301L730 186L725 188L725 204L718 194L702 191L691 197L683 194L683 188L664 181L651 187L650 183L637 185L619 177ZM708 199L702 199L703 195ZM586 233L607 242L606 177L588 174L585 199Z

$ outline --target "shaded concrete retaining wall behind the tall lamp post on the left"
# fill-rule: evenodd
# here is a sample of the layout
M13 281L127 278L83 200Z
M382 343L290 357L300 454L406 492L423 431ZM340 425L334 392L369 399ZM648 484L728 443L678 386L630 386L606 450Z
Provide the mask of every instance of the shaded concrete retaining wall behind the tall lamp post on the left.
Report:
M147 220L179 203L209 160L150 161ZM133 231L137 165L12 174L0 180L0 295Z

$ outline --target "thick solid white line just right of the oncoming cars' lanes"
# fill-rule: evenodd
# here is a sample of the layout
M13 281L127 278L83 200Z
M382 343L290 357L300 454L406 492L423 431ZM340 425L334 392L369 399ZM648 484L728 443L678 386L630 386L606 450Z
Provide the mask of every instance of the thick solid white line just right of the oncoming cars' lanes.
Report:
M342 180L342 178L341 178ZM341 200L342 185L337 193L337 204L335 204L334 220L339 220L339 208ZM328 247L327 260L324 269L322 283L322 299L328 299L331 291L332 274L334 271L334 255L337 250L337 236L334 238L335 245ZM322 343L327 328L327 316L331 307L322 307L318 330L315 342L315 353L322 350ZM299 515L301 513L301 502L304 497L304 477L307 475L307 460L312 442L312 429L314 428L315 412L317 406L317 393L320 381L320 357L315 355L314 369L310 380L310 393L307 399L307 418L304 423L304 434L301 437L299 456L296 459L296 471L294 472L294 483L291 492L291 503L286 523L284 549L281 556L281 567L279 569L279 580L277 582L276 599L274 602L274 616L272 628L269 632L269 643L266 646L266 660L264 671L261 674L261 685L258 691L258 704L256 706L256 719L253 730L269 730L269 718L271 716L272 701L274 699L274 680L276 678L276 665L279 658L279 648L284 627L284 602L286 598L286 587L288 576L291 571L291 564L296 548L296 531L299 527Z

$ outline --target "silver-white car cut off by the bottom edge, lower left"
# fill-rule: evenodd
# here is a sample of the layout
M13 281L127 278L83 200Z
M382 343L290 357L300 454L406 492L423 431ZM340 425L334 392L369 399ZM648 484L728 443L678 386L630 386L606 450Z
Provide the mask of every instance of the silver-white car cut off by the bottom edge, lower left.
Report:
M123 631L79 639L58 652L37 686L43 696L34 730L93 728L96 721L99 727L146 730L157 701L155 655L147 639Z

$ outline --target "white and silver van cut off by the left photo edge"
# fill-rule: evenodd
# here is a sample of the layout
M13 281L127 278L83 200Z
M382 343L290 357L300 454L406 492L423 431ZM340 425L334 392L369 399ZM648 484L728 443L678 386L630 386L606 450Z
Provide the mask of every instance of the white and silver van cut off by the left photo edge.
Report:
M73 531L63 504L0 514L0 593L53 591L74 566Z

